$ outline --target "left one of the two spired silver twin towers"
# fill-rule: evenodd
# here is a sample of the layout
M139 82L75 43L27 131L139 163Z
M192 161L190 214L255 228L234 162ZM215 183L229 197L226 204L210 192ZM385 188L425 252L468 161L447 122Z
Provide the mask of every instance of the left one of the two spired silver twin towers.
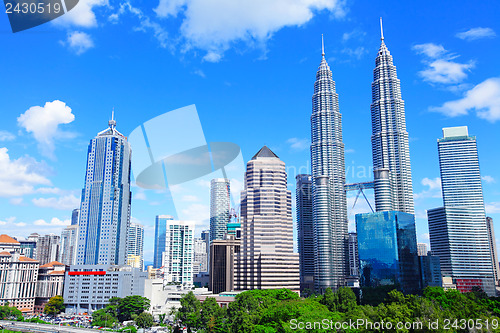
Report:
M311 164L314 284L324 292L345 284L348 231L342 115L324 47L312 97Z

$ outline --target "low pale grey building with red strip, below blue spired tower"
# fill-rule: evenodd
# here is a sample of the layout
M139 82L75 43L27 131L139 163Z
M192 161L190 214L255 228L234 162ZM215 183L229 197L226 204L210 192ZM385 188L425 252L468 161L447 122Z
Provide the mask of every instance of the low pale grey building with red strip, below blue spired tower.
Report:
M74 265L65 272L67 314L105 308L111 297L144 296L147 273L130 266Z

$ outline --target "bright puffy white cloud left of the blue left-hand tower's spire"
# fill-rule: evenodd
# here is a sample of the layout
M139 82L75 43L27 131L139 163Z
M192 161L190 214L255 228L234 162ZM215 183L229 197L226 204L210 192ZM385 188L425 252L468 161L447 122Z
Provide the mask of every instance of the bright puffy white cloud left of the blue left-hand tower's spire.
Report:
M54 157L54 140L73 137L70 132L63 132L58 127L75 120L71 108L66 103L55 100L45 106L32 106L17 118L19 126L32 133L45 156Z

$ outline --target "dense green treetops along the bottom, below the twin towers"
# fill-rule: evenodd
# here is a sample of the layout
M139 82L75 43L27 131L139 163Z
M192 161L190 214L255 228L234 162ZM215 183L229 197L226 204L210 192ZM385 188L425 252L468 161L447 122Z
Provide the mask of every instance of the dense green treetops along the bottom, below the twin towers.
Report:
M358 299L350 288L309 298L287 289L252 290L220 308L214 298L201 303L190 292L181 299L176 331L500 332L500 298L481 291L462 294L428 287L417 296L372 288L362 295Z

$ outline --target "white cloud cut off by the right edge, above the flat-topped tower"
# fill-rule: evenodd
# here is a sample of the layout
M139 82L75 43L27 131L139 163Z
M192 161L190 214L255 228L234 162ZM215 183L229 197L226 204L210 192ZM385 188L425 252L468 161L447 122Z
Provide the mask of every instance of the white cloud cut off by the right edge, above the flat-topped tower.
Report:
M444 103L440 107L431 107L448 117L467 115L475 111L479 118L490 122L500 119L500 78L490 78L479 83L465 93L465 97Z

